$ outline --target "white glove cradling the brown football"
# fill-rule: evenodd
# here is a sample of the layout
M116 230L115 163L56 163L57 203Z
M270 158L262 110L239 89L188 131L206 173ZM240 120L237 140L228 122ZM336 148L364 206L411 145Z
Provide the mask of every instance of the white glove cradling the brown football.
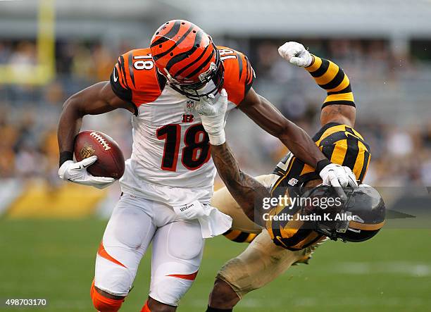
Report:
M65 181L75 182L82 185L91 185L98 189L104 189L115 182L113 177L94 177L87 172L87 167L92 165L97 160L97 156L82 159L74 163L73 161L65 161L60 169L58 175Z

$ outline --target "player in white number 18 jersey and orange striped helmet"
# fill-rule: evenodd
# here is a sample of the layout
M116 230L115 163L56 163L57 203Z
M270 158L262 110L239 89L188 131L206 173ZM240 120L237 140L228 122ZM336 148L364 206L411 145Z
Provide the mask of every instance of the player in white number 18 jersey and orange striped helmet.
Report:
M215 46L187 20L170 20L156 30L149 48L118 58L110 81L65 101L58 124L58 173L64 180L95 187L106 187L113 179L87 173L91 161L73 162L82 117L116 108L133 113L132 156L120 180L123 195L96 256L91 294L97 310L120 309L152 242L151 286L142 311L175 311L199 270L204 238L230 228L231 218L209 205L215 167L208 134L195 111L202 96L217 98L226 89L228 110L238 106L332 184L347 184L349 174L256 94L253 81L254 70L244 54Z

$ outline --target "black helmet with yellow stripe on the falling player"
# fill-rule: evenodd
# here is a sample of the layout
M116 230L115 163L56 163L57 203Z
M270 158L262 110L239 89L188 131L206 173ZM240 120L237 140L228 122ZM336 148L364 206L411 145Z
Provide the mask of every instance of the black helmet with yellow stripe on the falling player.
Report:
M343 191L346 198L339 201L341 204L325 209L302 205L303 213L316 213L320 216L326 214L327 218L313 222L313 230L321 235L332 240L342 239L344 242L364 242L376 235L385 224L385 202L380 193L370 185L345 187ZM320 185L303 192L301 197L339 198L339 192L334 187Z

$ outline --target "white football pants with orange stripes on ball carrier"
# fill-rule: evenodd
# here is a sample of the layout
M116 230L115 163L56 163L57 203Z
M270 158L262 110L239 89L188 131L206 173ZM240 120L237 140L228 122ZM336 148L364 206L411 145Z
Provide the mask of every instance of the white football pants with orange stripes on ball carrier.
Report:
M204 239L197 220L178 220L173 209L159 201L121 196L97 252L94 285L127 296L150 242L149 296L177 306L199 270Z

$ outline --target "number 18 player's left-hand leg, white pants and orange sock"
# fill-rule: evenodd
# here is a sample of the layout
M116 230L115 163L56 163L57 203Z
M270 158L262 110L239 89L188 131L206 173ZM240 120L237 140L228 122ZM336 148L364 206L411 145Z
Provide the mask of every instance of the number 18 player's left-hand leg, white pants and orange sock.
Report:
M151 205L152 201L124 194L115 206L96 256L91 297L98 311L118 311L129 293L156 231L146 212Z

